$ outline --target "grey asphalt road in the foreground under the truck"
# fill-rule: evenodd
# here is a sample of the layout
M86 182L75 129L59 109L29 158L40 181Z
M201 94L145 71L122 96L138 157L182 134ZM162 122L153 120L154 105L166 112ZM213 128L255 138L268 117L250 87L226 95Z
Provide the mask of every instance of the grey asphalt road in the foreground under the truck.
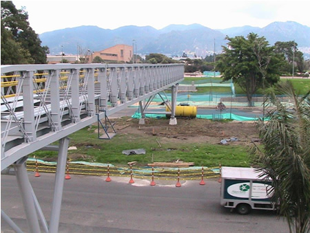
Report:
M50 219L54 174L30 174L45 218ZM242 216L220 206L220 184L206 180L149 181L127 177L86 177L65 180L59 232L289 232L287 223L268 211ZM1 210L27 232L16 177L1 175ZM1 219L2 220L2 219ZM1 221L1 232L12 232Z

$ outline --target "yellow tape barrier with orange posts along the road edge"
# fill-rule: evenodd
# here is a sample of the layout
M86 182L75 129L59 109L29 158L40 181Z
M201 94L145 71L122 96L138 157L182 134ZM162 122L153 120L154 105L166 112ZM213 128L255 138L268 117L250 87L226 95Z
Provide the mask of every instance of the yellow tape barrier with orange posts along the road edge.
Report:
M36 162L37 160L37 162ZM28 159L27 170L34 173L56 173L56 162L44 162L41 159ZM219 178L220 168L192 166L188 168L162 168L162 167L116 167L112 164L94 164L87 162L69 162L66 166L66 175L94 175L131 177L138 179L165 179L165 180L201 180L203 178ZM203 178L202 178L203 175ZM131 180L130 179L130 180ZM108 179L109 180L109 179Z

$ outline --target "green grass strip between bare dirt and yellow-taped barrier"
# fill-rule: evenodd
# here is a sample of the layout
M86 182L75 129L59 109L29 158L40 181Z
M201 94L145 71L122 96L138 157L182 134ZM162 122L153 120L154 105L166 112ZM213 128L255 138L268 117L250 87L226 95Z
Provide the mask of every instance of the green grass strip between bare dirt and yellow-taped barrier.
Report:
M115 166L125 166L127 162L136 161L137 166L147 166L154 162L172 162L177 159L183 162L194 162L195 166L249 166L247 146L207 143L165 143L165 138L147 135L118 134L112 140L99 140L92 129L84 128L70 135L70 146L77 150L68 151L68 157L74 161L111 163ZM158 146L156 139L161 143ZM122 151L145 148L145 155L123 155ZM36 155L43 160L56 161L55 151L36 151ZM79 155L79 156L76 156ZM48 158L48 159L47 159Z

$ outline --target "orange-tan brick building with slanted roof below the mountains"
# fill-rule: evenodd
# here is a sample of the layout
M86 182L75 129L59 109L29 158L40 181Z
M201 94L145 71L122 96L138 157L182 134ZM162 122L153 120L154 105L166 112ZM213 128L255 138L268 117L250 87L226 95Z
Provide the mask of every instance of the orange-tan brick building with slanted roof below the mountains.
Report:
M115 62L123 62L129 63L132 60L132 46L130 45L114 45L113 47L109 47L107 49L103 49L98 52L93 52L90 56L90 63L92 60L99 56L101 59L105 61L115 61Z

